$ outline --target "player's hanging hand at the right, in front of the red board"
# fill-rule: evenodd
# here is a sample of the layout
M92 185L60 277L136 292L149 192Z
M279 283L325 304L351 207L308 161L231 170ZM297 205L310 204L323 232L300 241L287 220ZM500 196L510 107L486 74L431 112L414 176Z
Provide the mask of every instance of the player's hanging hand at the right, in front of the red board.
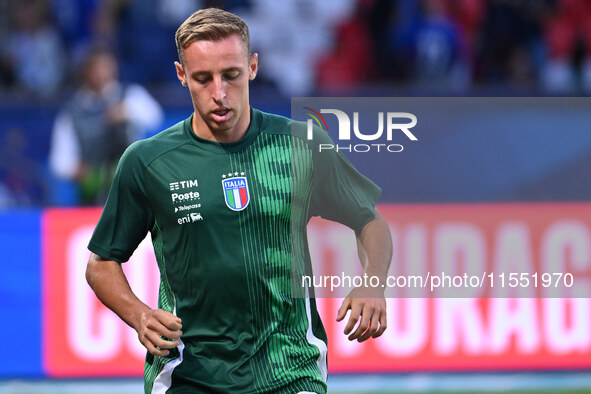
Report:
M362 289L353 290L349 297L345 298L339 308L337 321L343 320L347 311L351 310L344 331L345 335L349 335L361 317L361 322L357 329L349 335L349 340L357 339L357 342L363 342L370 337L377 338L386 331L386 300L383 296L381 298L360 297L362 294L356 290Z

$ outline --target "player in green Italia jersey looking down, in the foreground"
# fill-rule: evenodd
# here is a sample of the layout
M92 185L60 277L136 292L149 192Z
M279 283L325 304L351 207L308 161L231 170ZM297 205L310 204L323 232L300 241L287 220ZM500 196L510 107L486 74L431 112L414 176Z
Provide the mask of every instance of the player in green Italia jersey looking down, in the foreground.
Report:
M392 246L380 189L342 154L318 151L326 132L309 140L304 126L250 107L258 55L242 19L198 11L176 44L194 113L122 156L87 280L148 350L146 393L325 393L326 334L311 289L292 296L291 264L309 263L305 226L319 215L351 227L364 273L384 278ZM121 269L148 232L157 309ZM337 320L349 310L350 340L386 329L383 289L355 289Z

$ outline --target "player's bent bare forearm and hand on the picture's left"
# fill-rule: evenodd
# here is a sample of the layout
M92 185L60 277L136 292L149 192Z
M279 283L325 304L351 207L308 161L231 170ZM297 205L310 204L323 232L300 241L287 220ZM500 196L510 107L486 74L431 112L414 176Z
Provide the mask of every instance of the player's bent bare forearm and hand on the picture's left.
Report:
M142 345L155 356L167 356L179 345L181 319L162 309L151 309L131 290L121 263L91 253L86 280L98 299L138 334ZM162 336L171 340L163 339Z

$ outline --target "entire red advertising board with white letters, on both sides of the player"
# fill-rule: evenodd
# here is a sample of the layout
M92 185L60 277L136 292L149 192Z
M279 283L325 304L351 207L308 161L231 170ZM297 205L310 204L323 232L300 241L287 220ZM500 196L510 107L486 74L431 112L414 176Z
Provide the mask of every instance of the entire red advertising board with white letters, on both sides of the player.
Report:
M345 323L335 321L340 300L318 299L330 371L591 368L591 204L380 210L394 242L392 276L430 275L433 286L434 277L470 271L487 282L464 286L469 297L438 297L437 288L425 290L424 297L396 293L388 299L388 330L362 344L349 342ZM86 245L98 216L98 210L45 214L43 343L50 376L129 376L143 370L145 352L134 331L96 300L84 279ZM351 230L315 220L309 239L312 258L332 273L343 271L343 264L359 264ZM130 284L153 306L158 273L149 242L132 260L124 265ZM559 285L557 276L546 281L544 273L562 274Z

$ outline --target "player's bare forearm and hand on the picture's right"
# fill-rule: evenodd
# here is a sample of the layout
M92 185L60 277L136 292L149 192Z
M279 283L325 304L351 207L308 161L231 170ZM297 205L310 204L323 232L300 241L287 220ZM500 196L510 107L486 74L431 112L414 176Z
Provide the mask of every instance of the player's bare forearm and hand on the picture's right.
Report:
M343 320L350 309L345 335L349 335L350 341L357 339L358 342L363 342L370 337L379 337L387 327L385 288L382 285L386 283L392 260L392 237L388 223L377 208L374 218L363 227L357 237L357 251L364 274L367 277L378 277L380 286L356 288L351 291L339 308L337 321ZM361 322L354 330L359 320Z

